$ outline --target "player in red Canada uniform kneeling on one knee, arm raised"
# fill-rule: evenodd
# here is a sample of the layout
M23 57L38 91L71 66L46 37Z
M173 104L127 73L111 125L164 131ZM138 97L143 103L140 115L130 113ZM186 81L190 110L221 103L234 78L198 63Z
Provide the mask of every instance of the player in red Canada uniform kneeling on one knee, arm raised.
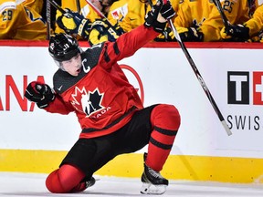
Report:
M53 77L55 91L33 81L25 96L47 112L75 112L82 131L59 169L47 176L50 192L84 191L95 183L93 173L108 161L147 144L141 192L165 192L168 180L160 171L180 126L179 112L168 104L143 108L117 62L158 36L173 16L171 5L158 1L144 25L84 52L72 36L51 36L48 51L59 67Z

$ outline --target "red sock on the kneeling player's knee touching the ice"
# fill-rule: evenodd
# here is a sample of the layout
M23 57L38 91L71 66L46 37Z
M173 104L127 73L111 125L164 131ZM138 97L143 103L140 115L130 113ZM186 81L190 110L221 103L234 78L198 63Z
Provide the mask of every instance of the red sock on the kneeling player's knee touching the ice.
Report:
M47 176L47 190L54 193L81 192L86 189L85 183L80 183L84 177L84 172L78 168L64 164Z

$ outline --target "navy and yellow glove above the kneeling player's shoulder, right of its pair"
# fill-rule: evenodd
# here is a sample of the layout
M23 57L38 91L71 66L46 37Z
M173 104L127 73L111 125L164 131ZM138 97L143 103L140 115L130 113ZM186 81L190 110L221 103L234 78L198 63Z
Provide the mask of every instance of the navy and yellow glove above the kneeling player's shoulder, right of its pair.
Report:
M96 19L91 26L89 45L97 45L108 40L114 42L122 34L124 34L124 31L118 23L115 26L111 26L106 18Z

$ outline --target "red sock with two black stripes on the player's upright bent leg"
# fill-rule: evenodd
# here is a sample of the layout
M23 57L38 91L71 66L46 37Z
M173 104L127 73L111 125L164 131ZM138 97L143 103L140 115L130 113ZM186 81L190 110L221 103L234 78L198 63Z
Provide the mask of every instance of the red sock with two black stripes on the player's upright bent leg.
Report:
M161 104L153 109L151 122L153 132L145 164L154 171L162 171L180 127L180 114L174 106Z

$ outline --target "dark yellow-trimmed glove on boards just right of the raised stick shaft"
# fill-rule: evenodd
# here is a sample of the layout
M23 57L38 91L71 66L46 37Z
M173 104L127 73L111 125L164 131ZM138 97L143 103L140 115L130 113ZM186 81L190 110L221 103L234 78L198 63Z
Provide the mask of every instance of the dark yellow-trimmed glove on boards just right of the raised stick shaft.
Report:
M202 42L204 40L204 34L194 27L184 28L184 30L179 33L179 36L183 42Z

